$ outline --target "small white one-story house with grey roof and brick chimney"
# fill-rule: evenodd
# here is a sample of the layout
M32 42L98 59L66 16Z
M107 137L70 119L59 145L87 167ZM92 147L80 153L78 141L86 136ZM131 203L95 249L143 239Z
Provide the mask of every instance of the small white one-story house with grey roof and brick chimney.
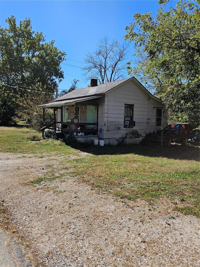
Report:
M134 143L133 130L142 135L141 140L167 126L168 110L163 101L135 77L102 85L91 79L91 87L76 89L38 107L53 108L55 131L73 132L79 141L98 138L116 145L128 133L127 142Z

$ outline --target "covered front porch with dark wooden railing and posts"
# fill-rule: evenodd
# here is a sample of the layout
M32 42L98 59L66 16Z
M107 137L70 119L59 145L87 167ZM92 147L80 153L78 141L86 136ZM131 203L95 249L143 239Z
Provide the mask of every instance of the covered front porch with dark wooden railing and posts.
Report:
M53 104L53 103L52 103ZM59 103L60 104L60 103ZM98 102L89 103L63 103L62 106L40 106L43 108L44 131L49 129L53 134L63 133L65 136L72 135L79 141L98 137ZM53 109L53 121L45 120L45 109Z

